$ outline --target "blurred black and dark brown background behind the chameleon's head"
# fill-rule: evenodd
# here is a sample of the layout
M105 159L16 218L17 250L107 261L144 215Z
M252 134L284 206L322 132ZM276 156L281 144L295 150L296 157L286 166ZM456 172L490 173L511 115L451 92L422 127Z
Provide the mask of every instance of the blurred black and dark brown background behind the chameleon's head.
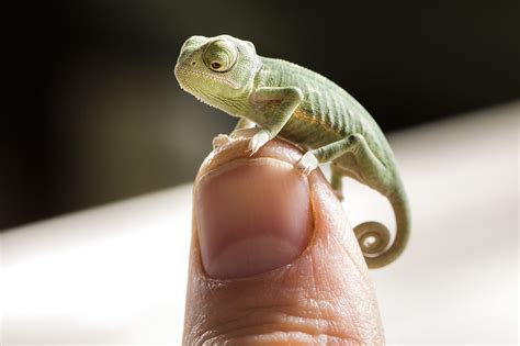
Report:
M191 35L319 71L388 132L517 99L519 3L12 2L0 230L193 179L234 120L178 87Z

